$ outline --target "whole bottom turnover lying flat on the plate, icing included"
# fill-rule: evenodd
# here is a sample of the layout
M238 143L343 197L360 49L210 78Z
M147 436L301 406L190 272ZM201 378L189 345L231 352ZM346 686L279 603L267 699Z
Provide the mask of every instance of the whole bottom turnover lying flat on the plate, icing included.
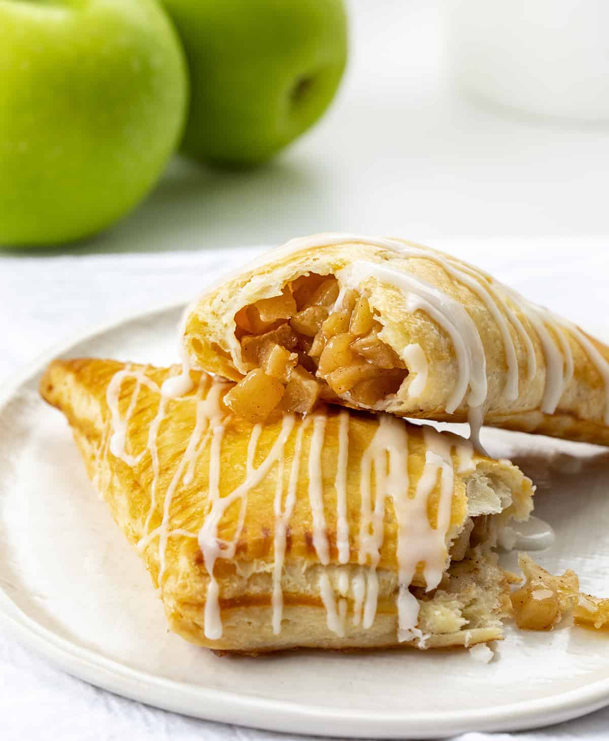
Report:
M530 512L518 468L456 436L337 407L251 425L223 405L233 384L205 374L192 372L181 398L162 394L179 371L56 361L41 384L174 631L253 653L398 645L398 564L414 556L406 642L501 637L492 523Z

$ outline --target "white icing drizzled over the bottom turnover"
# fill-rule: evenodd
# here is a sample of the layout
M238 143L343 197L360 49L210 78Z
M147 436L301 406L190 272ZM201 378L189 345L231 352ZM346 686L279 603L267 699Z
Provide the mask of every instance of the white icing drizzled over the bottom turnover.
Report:
M121 375L119 375L119 373ZM159 387L148 379L143 371L131 368L116 373L108 393L111 404L111 416L119 425L119 431L127 429L128 414L119 415L118 399L122 386L130 375L136 379L133 396L139 393L142 386L160 393ZM138 385L139 382L139 385ZM109 387L110 388L110 387ZM168 397L159 396L157 414L151 422L148 432L146 451L151 456L153 481L151 483L151 505L145 517L145 534L138 543L141 549L148 547L158 538L159 575L158 583L162 588L165 574L168 540L172 536L197 537L203 554L205 568L208 572L208 592L205 599L205 636L219 639L223 634L220 614L220 587L214 574L217 559L232 559L236 552L240 534L246 516L248 493L276 467L274 493L274 562L272 568L272 629L280 633L283 618L282 576L286 554L286 541L289 521L292 517L297 499L297 485L302 465L305 435L309 435L309 505L312 512L313 544L322 565L329 563L329 540L326 531L324 514L324 484L322 479L322 452L328 424L326 411L319 411L297 424L292 414L283 417L280 432L274 440L271 450L259 465L256 465L261 425L254 425L248 440L246 472L244 481L226 494L221 494L221 460L223 439L228 416L221 403L223 383L211 380L203 374L194 396L196 416L194 428L188 437L185 451L174 470L171 480L165 489L162 502L162 519L156 528L150 529L152 518L159 507L158 492L161 475L159 473L159 432L162 419L165 418L169 403ZM133 413L136 401L132 398L128 412ZM193 397L190 397L191 399ZM338 636L346 631L348 599L352 599L352 624L370 628L375 621L378 608L379 581L377 568L381 559L381 548L384 539L384 519L386 501L392 501L398 530L397 565L398 565L398 639L417 640L424 645L426 637L417 627L418 600L409 591L417 569L423 568L422 576L427 591L436 588L447 564L447 531L450 525L452 491L454 474L451 462L451 451L455 448L459 471L473 470L473 448L466 441L456 436L443 436L432 428L424 428L426 446L424 471L415 485L414 491L409 483L409 436L407 428L399 419L389 415L380 415L378 428L372 440L361 456L361 467L358 473L349 469L349 413L341 411L335 417L338 433L338 459L335 475L337 551L338 562L346 565L349 562L349 513L347 510L347 482L349 476L359 473L361 494L361 528L358 534L359 563L349 577L346 571L339 571L336 587L332 586L329 572L322 571L319 581L320 598L326 608L326 619L329 630ZM294 431L294 451L289 470L286 488L286 443ZM311 429L312 428L312 429ZM171 507L180 485L191 484L194 471L204 445L209 445L208 456L208 513L203 527L198 534L184 528L170 529ZM129 464L137 465L141 456L128 456ZM145 453L145 451L144 451ZM144 454L142 453L142 455ZM438 491L439 490L439 491ZM285 501L283 494L286 491ZM435 522L429 521L429 498L435 494ZM219 536L220 522L228 508L234 503L239 505L239 514L234 534L230 540ZM354 565L355 566L355 565ZM353 567L349 567L352 569ZM349 572L351 573L351 571ZM336 594L335 589L338 591Z

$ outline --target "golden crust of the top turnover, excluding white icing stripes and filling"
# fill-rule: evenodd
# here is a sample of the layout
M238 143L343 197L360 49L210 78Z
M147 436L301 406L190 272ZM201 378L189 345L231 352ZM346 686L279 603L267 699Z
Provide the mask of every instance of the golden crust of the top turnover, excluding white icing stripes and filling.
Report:
M467 310L484 348L487 380L483 405L485 424L609 445L609 426L606 423L608 389L599 371L602 363L609 361L609 348L572 325L556 324L552 318L547 318L549 315L541 313L538 315L538 319L541 316L541 330L544 328L547 332L544 344L535 317L532 320L531 312L527 310L531 305L516 293L508 293L485 273L471 273L469 266L450 256L402 240L393 240L393 243L406 249L414 247L415 250L423 250L423 255L408 256L409 253L406 253L405 256L387 246L358 242L357 238L341 241L336 237L333 240L332 235L320 235L309 242L294 240L285 247L271 250L254 262L251 269L228 279L191 305L185 317L183 341L194 367L238 381L248 371L240 344L235 338L234 316L240 309L260 299L278 296L284 286L299 276L308 273L323 276L339 274L340 283L340 276L345 275L341 270L363 265L363 270L358 273L358 290L367 296L377 319L383 325L383 331L379 334L383 342L401 358L404 358L405 348L418 345L427 359L427 382L421 391L409 395L409 386L415 382L417 373L406 359L411 372L402 387L398 393L374 408L399 416L467 421L470 410L467 394L454 411L447 411L460 373L453 339L446 328L426 310L408 308L404 287L392 285L378 275L365 275L366 269L369 273L373 272L372 268L366 266L380 266L384 270L389 268L398 279L400 276L412 276L424 282ZM473 290L455 278L454 274L448 273L447 265L450 270L470 270L466 272L467 279L474 280L484 290L490 288L493 291L492 295L484 295L491 296L490 300L503 317L504 331L509 333L513 345L518 368L518 393L515 399L507 398L507 344L501 325L489 309L488 298L484 301L479 290ZM512 313L514 320L510 319L507 311ZM525 342L517 323L526 332L530 345ZM548 342L555 348L550 350L556 354L556 362L551 359L548 362ZM589 345L586 347L585 343ZM556 408L550 404L553 411L548 413L547 405L544 411L544 393L547 393L548 385L553 383L550 378L552 373L559 371L561 375L565 373L568 376L570 359L567 359L567 348L573 360L573 376L559 393ZM529 373L533 367L533 364L530 365L531 350L536 366L533 377ZM593 362L591 352L594 350L599 353L599 362ZM556 367L557 362L560 368ZM361 407L354 404L348 395L332 401L352 408Z

